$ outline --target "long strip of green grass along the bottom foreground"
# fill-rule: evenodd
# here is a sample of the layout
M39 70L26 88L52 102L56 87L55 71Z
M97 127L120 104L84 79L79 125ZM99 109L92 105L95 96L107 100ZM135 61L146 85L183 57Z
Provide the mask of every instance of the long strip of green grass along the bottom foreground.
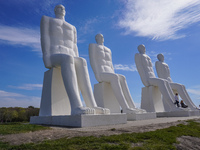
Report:
M38 144L23 144L11 146L0 143L0 149L29 149L29 150L173 150L180 136L200 137L200 123L188 121L187 125L177 125L166 129L145 133L126 133L121 135L102 137L74 137L68 139L48 140ZM141 143L139 147L132 147L134 143Z

